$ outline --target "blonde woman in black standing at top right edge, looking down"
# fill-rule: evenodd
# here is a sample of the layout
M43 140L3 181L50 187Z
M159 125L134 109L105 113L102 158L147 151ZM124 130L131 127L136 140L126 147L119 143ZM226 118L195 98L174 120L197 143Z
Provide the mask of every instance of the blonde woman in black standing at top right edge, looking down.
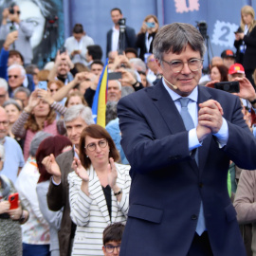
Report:
M255 88L252 74L256 68L256 21L254 9L245 6L241 9L241 25L240 30L235 33L235 46L240 47L240 51L244 50L243 66L245 68L246 77ZM243 49L244 46L244 49Z

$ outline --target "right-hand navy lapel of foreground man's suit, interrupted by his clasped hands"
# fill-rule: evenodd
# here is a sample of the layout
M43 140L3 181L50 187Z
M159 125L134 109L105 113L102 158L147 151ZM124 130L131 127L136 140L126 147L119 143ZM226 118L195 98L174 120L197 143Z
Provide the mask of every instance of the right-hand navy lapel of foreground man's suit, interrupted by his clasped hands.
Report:
M210 93L202 86L198 85L198 101L197 103L202 103L204 101L209 101L211 99ZM198 105L199 111L199 105ZM199 160L199 174L203 174L203 170L206 164L207 156L210 150L210 142L212 136L208 136L204 139L202 147L198 148L198 160Z

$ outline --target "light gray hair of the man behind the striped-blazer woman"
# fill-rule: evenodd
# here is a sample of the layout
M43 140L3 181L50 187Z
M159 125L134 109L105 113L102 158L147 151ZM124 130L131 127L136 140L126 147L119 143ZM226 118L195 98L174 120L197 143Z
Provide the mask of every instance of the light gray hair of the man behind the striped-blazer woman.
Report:
M74 105L66 109L64 113L64 124L74 119L82 118L87 125L94 124L92 110L88 106L82 104Z

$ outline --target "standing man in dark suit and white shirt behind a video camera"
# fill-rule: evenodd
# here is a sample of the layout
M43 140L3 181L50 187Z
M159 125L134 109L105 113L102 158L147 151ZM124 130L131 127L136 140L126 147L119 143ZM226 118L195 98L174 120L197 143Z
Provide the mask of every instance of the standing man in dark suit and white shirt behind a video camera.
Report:
M119 49L119 19L122 19L121 10L118 8L111 9L111 19L114 23L114 27L107 32L106 56L108 56L110 51L116 51ZM124 49L127 47L135 48L136 40L137 37L135 29L126 26L124 32Z

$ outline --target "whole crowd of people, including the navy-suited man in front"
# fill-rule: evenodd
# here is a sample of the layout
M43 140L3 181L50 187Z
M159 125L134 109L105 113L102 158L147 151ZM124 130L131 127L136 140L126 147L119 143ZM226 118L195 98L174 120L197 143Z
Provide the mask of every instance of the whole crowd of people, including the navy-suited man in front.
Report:
M0 254L255 256L254 10L202 76L195 27L150 14L123 32L111 9L105 127L101 46L76 24L39 68L20 13L0 27Z

